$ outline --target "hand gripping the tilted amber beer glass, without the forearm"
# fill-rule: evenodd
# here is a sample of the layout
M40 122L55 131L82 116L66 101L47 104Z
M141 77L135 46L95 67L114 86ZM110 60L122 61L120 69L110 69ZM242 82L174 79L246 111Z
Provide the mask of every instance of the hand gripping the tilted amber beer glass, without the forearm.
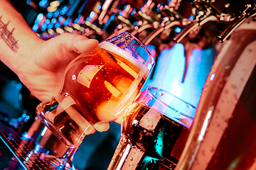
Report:
M70 33L46 41L40 39L31 47L20 49L23 50L20 53L26 56L18 68L18 77L36 98L46 100L62 88L68 64L80 53L97 45L97 40Z

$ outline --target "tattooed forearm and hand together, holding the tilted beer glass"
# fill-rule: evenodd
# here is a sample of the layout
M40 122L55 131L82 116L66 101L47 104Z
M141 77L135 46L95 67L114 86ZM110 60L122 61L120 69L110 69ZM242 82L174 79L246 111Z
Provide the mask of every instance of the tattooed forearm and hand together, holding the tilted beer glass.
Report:
M9 0L0 1L0 27L1 62L41 101L60 91L71 60L98 45L97 40L71 33L42 40ZM100 132L109 127L107 120L95 125Z

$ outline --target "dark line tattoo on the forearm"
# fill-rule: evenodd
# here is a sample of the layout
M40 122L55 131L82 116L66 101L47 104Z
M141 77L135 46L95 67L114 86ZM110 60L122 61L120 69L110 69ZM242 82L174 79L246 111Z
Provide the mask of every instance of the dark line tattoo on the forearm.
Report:
M11 50L14 52L17 52L18 50L18 40L15 40L12 34L14 33L14 28L11 30L11 32L7 29L8 23L3 23L1 21L2 16L0 16L0 39L4 40L6 42L6 45L8 45Z

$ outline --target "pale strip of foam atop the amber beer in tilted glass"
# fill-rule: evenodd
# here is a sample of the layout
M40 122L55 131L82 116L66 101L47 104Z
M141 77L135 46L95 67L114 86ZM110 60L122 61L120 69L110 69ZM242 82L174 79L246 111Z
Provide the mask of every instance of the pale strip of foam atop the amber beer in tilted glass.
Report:
M129 50L123 50L122 48L119 48L116 45L113 45L111 42L107 42L107 41L100 42L98 47L103 48L105 50L113 52L114 54L119 55L120 57L122 57L125 60L128 60L129 62L134 64L139 69L144 69L144 67L146 67L144 64L140 63L138 60L136 60L132 56L132 52L130 52ZM146 70L148 70L148 69L146 68Z

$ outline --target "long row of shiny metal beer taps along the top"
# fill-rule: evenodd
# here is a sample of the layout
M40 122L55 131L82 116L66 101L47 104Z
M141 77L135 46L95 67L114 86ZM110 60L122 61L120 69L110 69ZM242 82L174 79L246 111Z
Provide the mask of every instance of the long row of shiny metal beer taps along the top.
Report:
M223 42L245 18L255 15L255 0L245 0L245 9L241 10L240 15L235 15L229 4L225 4L228 12L220 11L214 6L214 2L215 0L191 0L191 17L184 18L178 13L178 9L183 7L180 6L181 0L159 4L146 0L139 9L120 0L105 0L102 4L97 2L87 18L79 15L77 19L73 19L71 29L65 28L61 33L79 33L102 41L128 31L145 45L169 44L172 47L174 43L186 40L197 43L208 31L204 26L209 23L215 25L214 40ZM96 8L99 5L100 9ZM51 30L49 33L54 35L56 32L58 31Z

